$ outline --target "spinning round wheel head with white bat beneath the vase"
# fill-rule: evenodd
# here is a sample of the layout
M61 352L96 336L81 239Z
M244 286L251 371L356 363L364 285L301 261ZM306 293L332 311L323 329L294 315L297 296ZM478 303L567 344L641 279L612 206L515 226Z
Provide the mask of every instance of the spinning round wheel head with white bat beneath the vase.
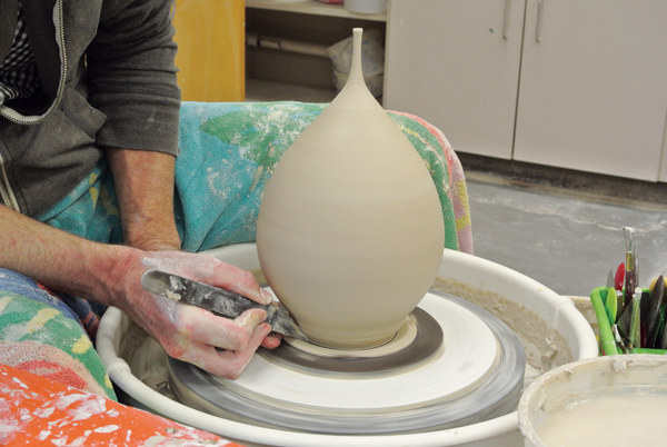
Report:
M237 380L170 359L170 381L181 403L226 419L346 435L460 427L509 414L520 397L517 336L439 291L426 295L386 346L331 351L283 342L260 350Z

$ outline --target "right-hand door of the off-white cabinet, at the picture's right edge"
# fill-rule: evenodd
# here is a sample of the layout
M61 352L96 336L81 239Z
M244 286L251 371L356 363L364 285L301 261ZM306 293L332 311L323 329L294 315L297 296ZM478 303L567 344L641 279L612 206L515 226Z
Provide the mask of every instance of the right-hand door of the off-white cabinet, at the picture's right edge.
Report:
M514 158L656 181L666 24L665 0L528 0Z

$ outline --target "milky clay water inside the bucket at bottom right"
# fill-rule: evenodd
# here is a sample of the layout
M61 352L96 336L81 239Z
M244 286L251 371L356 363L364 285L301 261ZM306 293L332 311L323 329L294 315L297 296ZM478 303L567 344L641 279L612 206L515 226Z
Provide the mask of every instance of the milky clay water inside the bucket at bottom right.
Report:
M535 430L547 447L661 447L667 396L609 395L547 413Z

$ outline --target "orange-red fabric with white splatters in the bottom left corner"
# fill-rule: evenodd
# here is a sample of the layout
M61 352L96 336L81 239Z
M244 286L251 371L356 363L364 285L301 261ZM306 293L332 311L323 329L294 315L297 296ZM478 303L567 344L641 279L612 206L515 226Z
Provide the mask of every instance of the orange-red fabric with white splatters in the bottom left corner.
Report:
M1 364L0 445L240 447Z

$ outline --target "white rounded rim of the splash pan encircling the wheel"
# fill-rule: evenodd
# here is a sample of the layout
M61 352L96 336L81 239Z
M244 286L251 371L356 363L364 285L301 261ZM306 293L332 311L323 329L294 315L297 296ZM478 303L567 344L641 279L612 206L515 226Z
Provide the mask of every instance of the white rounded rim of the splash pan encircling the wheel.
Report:
M257 251L255 244L239 244L209 250L207 254L216 257L220 252L237 256L245 256L247 254L248 257L251 257L252 251ZM520 281L527 286L527 288L534 289L535 292L539 294L540 298L551 302L558 311L568 314L568 318L575 320L580 319L588 328L590 328L584 316L576 310L575 305L570 299L557 295L544 285L515 270L482 258L448 249L445 249L442 255L442 262L445 264L446 261L456 262L462 266L474 266L486 272L495 274L495 276ZM442 275L438 274L438 276L441 277ZM511 430L518 430L519 418L517 411L484 423L445 430L378 436L319 435L285 431L250 426L211 416L160 395L132 375L129 365L118 357L116 350L115 335L121 325L122 317L123 314L119 309L109 308L101 319L98 329L97 350L107 368L109 378L125 393L146 405L148 408L155 410L159 409L158 411L166 417L172 418L181 424L219 434L230 440L285 447L340 447L341 443L345 443L348 447L445 447L489 439ZM595 334L593 332L593 329L585 330L584 328L586 326L577 325L575 335L581 350L576 360L597 357L598 355Z

